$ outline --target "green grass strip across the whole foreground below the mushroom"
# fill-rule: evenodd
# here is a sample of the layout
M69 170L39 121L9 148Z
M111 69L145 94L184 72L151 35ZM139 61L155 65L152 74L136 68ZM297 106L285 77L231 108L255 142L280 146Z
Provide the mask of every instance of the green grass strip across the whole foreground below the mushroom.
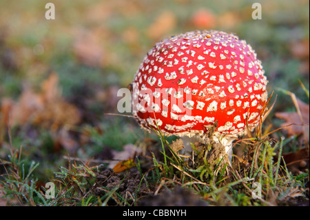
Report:
M285 141L282 137L278 141L265 136L264 139L251 138L250 145L240 141L238 145L245 147L242 158L234 157L233 163L220 160L209 164L201 159L204 152L196 151L193 158L185 159L172 150L161 132L158 138L161 141L161 148L157 149L161 152L160 158L154 152L150 157L137 156L136 166L129 172L124 171L113 188L98 182L102 170L106 170L103 165L90 166L69 160L68 166L61 166L54 172L51 180L56 185L54 199L46 198L47 189L35 177L39 163L23 159L22 147L11 150L8 161L1 159L6 170L0 183L3 197L19 206L136 206L141 199L138 195L143 193L139 190L145 191L141 188L143 183L152 194L158 194L164 188L173 191L175 186L189 188L212 206L309 204L309 170L293 174L281 157L283 147L292 140ZM152 162L147 171L143 171L145 160ZM122 185L130 181L126 179L130 172L139 173L134 192L126 191L129 188L123 189ZM101 194L95 193L94 184L100 186Z

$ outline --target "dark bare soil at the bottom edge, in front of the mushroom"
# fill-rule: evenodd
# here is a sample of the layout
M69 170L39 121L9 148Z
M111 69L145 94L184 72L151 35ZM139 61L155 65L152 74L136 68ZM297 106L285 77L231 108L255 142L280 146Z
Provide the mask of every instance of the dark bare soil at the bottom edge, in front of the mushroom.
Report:
M145 183L139 172L130 170L127 172L115 173L110 168L103 168L96 174L96 182L90 189L92 194L103 197L116 189L118 198L122 197L130 201L132 197L136 200L137 206L207 206L208 204L192 190L175 187L172 189L159 190L154 195L158 186ZM132 197L131 197L131 195ZM108 206L117 206L115 198L108 201Z

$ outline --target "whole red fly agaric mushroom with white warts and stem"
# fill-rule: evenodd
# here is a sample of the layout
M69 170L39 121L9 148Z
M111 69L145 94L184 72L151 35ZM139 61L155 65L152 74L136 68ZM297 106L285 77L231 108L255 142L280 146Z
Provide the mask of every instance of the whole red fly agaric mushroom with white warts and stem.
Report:
M256 52L234 34L194 31L156 43L133 81L134 116L166 136L232 141L258 126L267 78Z

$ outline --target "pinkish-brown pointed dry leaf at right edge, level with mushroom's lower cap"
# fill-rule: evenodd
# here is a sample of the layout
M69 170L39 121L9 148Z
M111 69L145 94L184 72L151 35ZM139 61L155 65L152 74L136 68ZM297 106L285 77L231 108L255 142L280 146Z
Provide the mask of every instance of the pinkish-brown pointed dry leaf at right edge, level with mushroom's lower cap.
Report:
M304 126L291 125L292 123L307 124L307 129L309 131L309 104L306 104L297 98L296 102L300 109L299 114L298 112L276 112L275 114L279 119L285 119L286 122L282 123L281 127L288 126L284 129L287 130L289 135L300 135L304 133ZM304 136L304 138L309 139L309 135Z

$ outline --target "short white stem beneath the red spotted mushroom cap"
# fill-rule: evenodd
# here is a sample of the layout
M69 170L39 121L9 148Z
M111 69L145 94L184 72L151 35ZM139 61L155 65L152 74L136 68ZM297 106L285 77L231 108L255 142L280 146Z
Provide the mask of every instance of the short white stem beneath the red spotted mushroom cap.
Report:
M186 154L187 152L191 152L192 146L191 143L199 142L199 143L205 143L205 139L209 137L200 137L199 135L195 135L194 137L187 137L183 136L181 139L183 140L184 149L182 150L183 154ZM232 143L234 141L234 137L221 137L218 134L214 134L212 137L213 141L216 143L221 143L225 147L225 154L227 154L227 157L229 161L231 162L232 159ZM224 157L225 155L223 155Z

